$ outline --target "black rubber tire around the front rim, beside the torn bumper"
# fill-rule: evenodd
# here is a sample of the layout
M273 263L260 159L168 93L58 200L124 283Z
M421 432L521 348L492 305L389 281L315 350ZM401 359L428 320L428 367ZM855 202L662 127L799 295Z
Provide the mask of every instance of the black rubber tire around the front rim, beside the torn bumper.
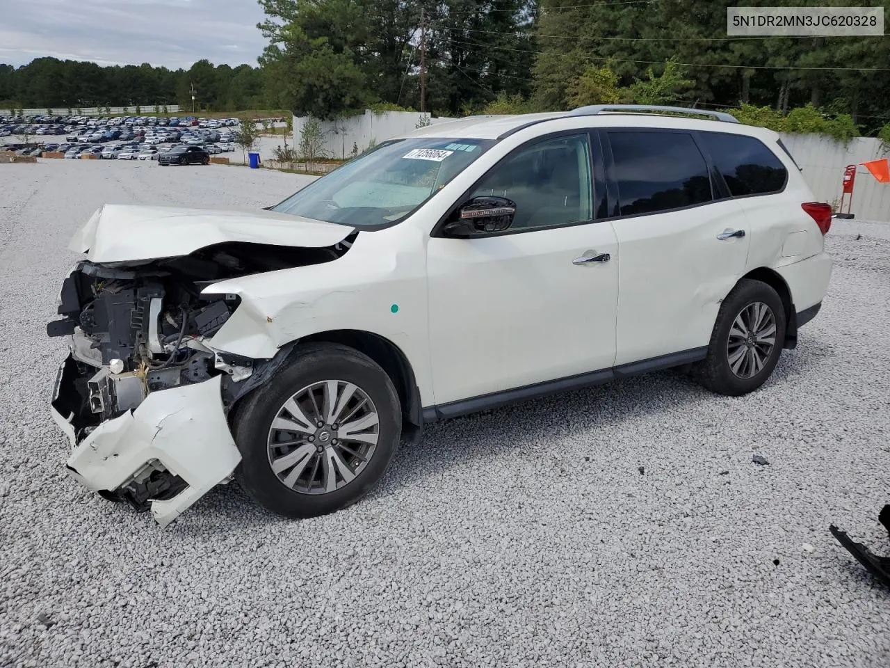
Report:
M373 402L379 420L376 449L351 482L328 493L303 493L289 488L272 470L270 428L292 395L328 379L355 384ZM401 440L401 403L392 380L367 355L339 344L307 344L297 347L281 371L239 403L232 434L242 457L236 475L255 501L285 517L318 517L351 506L384 476Z

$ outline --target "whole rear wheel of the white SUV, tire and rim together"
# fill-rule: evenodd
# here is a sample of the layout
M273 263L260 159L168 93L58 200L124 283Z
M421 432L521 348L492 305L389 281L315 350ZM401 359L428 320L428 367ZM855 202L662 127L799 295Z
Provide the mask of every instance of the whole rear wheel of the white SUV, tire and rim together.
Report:
M708 355L695 367L693 375L718 395L753 392L765 383L779 362L786 324L785 306L772 287L762 281L739 281L720 305ZM759 337L754 336L755 331ZM771 347L767 345L770 338Z

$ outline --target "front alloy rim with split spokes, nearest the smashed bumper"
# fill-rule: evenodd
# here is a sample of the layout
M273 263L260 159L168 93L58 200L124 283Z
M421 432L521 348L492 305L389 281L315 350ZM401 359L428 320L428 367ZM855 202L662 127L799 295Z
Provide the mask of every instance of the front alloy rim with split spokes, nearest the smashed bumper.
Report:
M269 429L269 465L282 485L324 494L349 485L376 450L380 420L368 394L321 380L291 395Z

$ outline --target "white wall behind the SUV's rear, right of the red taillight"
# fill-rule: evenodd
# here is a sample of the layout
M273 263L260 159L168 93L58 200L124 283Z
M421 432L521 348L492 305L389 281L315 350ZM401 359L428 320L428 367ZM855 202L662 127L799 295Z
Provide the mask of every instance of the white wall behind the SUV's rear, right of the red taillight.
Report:
M821 134L781 134L816 200L840 202L841 181L847 165L886 158L878 139L857 137L848 144ZM846 211L846 206L844 207ZM878 183L865 167L859 167L850 212L863 220L890 222L890 183Z

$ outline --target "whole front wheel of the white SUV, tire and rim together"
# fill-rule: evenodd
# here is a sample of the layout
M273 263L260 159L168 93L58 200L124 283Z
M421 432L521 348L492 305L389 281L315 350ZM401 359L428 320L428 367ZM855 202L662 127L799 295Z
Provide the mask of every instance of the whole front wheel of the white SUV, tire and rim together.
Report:
M295 413L286 411L286 403L295 403L306 423L314 416L313 399L320 411L326 411L324 393L330 386L324 381L329 380L340 381L336 393L341 399L349 391L346 384L357 387L353 399L339 413L339 418L346 417L347 425L357 425L360 420L373 422L367 411L376 412L376 425L368 426L372 432L376 429L376 434L360 429L352 432L366 441L376 437L373 449L368 442L352 440L344 425L326 423L317 428L316 423L304 433L274 428L274 424L299 424ZM242 457L237 477L247 493L279 515L318 517L351 506L384 476L401 440L401 403L392 380L367 355L338 344L308 344L297 347L287 366L247 395L236 407L232 423ZM332 426L338 430L330 429ZM307 436L312 430L314 436ZM285 445L271 445L277 442ZM327 445L319 452L322 442ZM367 461L353 457L344 447L364 454ZM328 459L332 453L339 459ZM273 461L279 462L278 472L272 469ZM336 470L333 484L328 477L331 469Z

